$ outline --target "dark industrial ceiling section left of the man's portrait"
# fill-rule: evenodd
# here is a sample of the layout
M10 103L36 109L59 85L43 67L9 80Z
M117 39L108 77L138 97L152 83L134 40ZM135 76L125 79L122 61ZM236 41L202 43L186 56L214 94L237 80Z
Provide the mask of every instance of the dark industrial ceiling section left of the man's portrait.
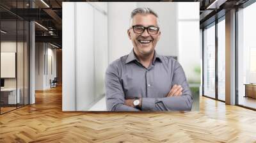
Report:
M51 42L61 47L62 2L61 0L1 0L1 29L8 31L7 34L1 34L2 38L11 39L16 34L19 38L20 34L22 35L22 28L18 27L16 31L16 19L35 20L35 40ZM17 25L19 26L20 23L18 22Z

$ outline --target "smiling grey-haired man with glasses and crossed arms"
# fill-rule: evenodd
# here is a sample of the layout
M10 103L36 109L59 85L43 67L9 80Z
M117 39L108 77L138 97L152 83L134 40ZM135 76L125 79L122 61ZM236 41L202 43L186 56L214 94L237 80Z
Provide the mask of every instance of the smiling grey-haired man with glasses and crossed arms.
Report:
M107 109L191 110L191 91L182 67L155 51L161 35L157 14L150 8L136 8L127 33L131 53L109 64L106 71Z

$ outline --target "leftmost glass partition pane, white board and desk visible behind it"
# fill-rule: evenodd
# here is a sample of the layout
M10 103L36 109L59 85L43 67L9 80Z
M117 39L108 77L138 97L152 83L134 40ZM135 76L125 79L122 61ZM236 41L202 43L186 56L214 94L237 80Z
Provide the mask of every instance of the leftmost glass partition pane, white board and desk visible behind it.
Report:
M1 113L17 108L17 22L1 21Z

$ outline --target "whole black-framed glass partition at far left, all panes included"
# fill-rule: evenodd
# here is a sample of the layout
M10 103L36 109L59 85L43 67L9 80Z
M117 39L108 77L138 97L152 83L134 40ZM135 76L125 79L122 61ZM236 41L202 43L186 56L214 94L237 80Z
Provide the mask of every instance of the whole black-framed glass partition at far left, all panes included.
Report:
M11 10L28 8L28 1L0 4L8 4ZM0 29L0 114L3 114L29 103L29 22L0 8Z

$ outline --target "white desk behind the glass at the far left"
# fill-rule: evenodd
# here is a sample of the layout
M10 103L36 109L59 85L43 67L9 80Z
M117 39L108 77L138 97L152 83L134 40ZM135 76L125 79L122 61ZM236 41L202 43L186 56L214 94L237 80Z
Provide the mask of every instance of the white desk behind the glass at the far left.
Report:
M4 88L1 89L1 102L4 104L16 104L20 103L20 89L17 89L18 94L16 98L16 88Z

